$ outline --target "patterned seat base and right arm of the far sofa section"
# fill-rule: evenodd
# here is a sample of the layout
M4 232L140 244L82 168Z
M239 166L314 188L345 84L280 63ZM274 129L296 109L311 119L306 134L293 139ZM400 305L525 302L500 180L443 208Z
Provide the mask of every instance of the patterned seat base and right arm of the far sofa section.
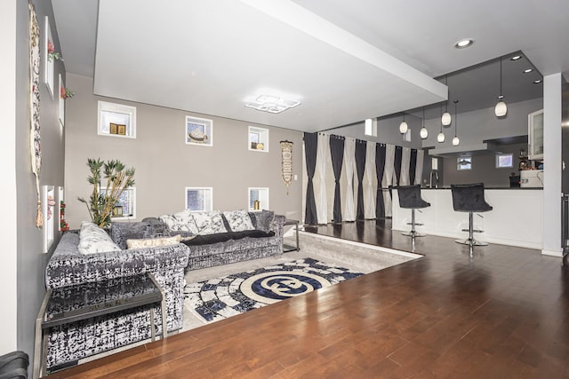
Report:
M268 210L248 214L254 227L252 231L198 235L188 241L182 240L190 250L186 271L281 255L285 217ZM143 221L150 223L158 233L188 236L188 233L170 230L158 218L148 217Z

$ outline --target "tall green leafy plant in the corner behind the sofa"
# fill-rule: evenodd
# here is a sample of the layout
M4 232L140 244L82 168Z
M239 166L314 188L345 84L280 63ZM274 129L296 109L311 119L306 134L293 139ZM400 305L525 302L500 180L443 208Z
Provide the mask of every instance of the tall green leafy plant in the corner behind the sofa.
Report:
M134 186L134 169L126 168L120 161L103 162L99 158L87 159L87 166L91 170L87 181L93 186L92 193L89 201L82 197L77 199L86 205L93 224L106 227L110 224L110 217L121 193L125 188ZM101 169L107 179L106 190L103 192L100 190Z

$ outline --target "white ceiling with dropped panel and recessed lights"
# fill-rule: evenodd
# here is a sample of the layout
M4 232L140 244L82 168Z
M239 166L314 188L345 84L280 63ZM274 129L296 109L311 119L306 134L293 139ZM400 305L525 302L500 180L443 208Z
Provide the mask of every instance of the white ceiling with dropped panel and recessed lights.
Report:
M432 78L449 73L449 100L461 98L462 112L492 107L500 91L496 58L514 51L525 59L503 59L507 101L540 97L534 78L569 73L566 0L52 5L66 70L94 77L93 93L293 130L325 130L438 103L447 91ZM454 49L464 37L476 43ZM535 72L519 75L532 63ZM244 107L244 99L261 93L302 104L281 114Z

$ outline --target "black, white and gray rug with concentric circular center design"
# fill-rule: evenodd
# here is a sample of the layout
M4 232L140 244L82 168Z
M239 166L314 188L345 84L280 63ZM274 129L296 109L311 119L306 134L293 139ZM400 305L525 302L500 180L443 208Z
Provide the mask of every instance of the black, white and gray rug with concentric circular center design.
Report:
M212 322L361 275L316 259L297 259L188 284L185 306L200 320Z

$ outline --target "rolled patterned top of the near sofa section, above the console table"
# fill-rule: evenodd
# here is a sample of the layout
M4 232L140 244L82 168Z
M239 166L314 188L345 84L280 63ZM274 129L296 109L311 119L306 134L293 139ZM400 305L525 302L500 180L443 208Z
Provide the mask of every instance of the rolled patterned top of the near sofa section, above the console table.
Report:
M84 255L78 252L79 234L64 233L45 267L46 288L165 272L188 265L189 249L175 244Z

